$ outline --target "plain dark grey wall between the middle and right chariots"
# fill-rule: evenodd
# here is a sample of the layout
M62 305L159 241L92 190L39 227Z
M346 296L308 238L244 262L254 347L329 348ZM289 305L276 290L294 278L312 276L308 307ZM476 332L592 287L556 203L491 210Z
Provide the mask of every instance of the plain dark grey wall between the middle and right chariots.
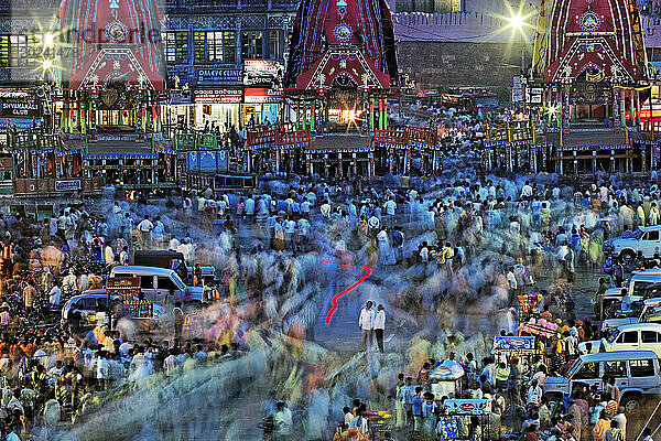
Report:
M418 88L462 86L512 87L521 73L521 44L401 41L400 72ZM530 51L525 63L530 65Z

